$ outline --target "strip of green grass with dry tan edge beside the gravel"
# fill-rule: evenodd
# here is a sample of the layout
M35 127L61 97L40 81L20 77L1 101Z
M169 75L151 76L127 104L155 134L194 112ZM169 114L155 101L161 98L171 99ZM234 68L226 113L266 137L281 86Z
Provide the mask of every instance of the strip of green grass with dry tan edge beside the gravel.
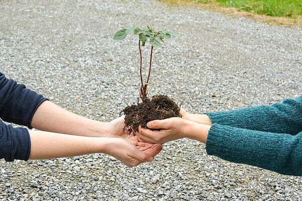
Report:
M159 0L169 5L200 6L261 22L302 27L302 0Z

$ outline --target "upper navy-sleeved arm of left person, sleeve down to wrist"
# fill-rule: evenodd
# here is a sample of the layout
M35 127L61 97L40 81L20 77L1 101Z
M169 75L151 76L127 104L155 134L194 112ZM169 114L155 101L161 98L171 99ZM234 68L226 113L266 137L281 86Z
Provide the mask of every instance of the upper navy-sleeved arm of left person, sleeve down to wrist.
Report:
M110 123L68 112L26 88L24 84L5 77L1 72L0 118L6 122L54 133L90 137L107 137L112 134Z

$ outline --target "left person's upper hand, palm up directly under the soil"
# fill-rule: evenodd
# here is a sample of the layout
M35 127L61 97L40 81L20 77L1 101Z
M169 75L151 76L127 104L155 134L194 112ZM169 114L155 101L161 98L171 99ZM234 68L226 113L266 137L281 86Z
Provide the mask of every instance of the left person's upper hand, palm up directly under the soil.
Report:
M109 129L107 131L108 134L106 137L124 139L136 146L140 151L148 153L153 157L162 151L163 145L149 143L141 144L141 142L139 142L138 137L129 135L127 131L124 130L124 127L125 124L123 116L112 120L109 123Z

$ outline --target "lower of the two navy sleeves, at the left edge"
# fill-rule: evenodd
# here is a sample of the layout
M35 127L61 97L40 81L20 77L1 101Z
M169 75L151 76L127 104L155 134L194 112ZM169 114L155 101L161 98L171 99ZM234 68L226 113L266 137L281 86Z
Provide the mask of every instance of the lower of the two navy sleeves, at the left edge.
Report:
M0 159L28 160L30 155L30 136L25 128L14 128L0 120Z

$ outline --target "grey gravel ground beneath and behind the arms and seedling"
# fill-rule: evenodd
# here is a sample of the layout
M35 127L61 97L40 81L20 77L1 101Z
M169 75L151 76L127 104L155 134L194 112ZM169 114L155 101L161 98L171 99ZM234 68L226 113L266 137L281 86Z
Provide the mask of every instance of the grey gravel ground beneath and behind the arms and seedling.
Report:
M149 93L192 113L302 94L302 30L155 1L0 1L0 69L59 106L100 121L136 102L136 38L128 25L184 34L155 50ZM143 51L147 55L147 51ZM146 59L145 59L146 61ZM300 177L208 156L190 140L127 168L101 154L0 161L0 200L302 200Z

